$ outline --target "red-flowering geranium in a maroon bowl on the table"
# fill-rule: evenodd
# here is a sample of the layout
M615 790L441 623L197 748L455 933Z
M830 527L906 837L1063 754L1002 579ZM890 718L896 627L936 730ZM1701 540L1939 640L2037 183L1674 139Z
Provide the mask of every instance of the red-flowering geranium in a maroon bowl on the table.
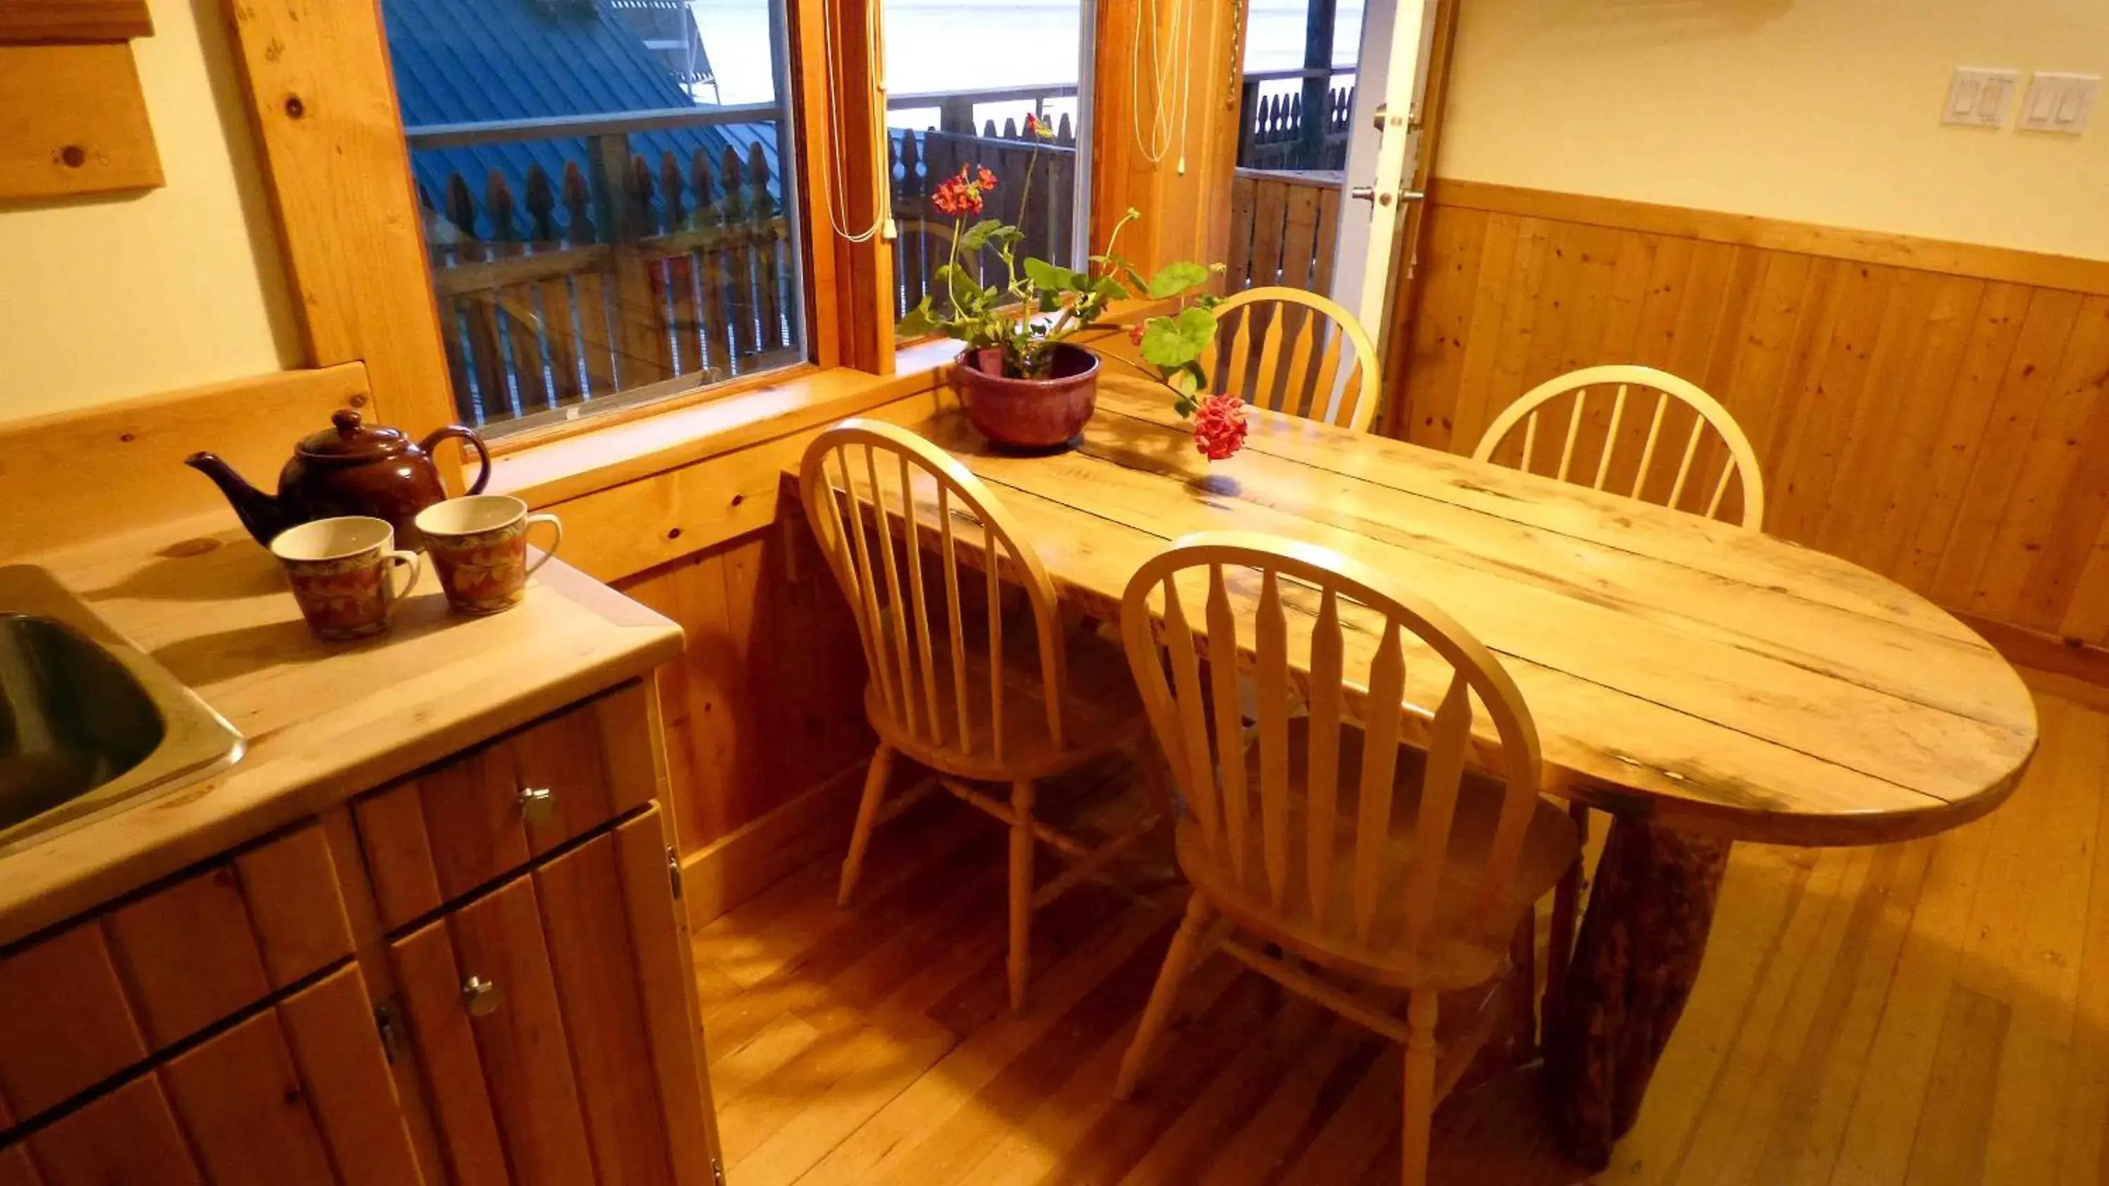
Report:
M1031 116L1025 129L1052 137L1046 122ZM1177 305L1126 327L1128 339L1141 348L1152 377L1170 388L1179 415L1194 417L1194 447L1213 461L1236 453L1244 444L1244 400L1234 394L1200 396L1200 360L1215 345L1211 310L1217 303L1200 289L1223 265L1179 261L1143 276L1114 251L1120 232L1139 217L1133 209L1114 225L1105 253L1092 255L1082 272L1038 257L1019 259L1025 232L979 217L995 183L995 175L981 166L962 166L939 183L932 202L953 219L951 253L932 274L943 305L924 295L898 327L903 337L943 333L966 343L957 379L974 428L1014 449L1069 444L1097 407L1101 360L1071 339L1084 331L1120 331L1101 322L1107 305L1145 297ZM1031 192L1031 166L1023 192ZM1019 209L1025 209L1023 196ZM985 249L995 253L993 278L1000 282L983 282L962 263L962 255L972 261ZM1133 364L1109 354L1103 358Z

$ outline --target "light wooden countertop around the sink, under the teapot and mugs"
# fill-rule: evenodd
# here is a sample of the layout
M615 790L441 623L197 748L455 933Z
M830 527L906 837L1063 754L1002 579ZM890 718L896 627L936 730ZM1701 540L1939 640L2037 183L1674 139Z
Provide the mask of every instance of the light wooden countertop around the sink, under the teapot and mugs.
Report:
M21 556L249 739L224 773L0 855L0 944L643 676L681 628L553 560L521 607L456 617L432 573L394 630L323 643L226 512Z

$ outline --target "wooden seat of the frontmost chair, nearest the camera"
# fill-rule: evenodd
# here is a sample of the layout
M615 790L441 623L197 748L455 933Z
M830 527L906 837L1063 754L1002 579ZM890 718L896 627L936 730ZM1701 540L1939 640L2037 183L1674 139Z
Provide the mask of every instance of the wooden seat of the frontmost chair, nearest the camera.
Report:
M1417 849L1415 822L1419 813L1419 786L1424 754L1398 750L1398 771L1392 782L1392 811L1388 845L1384 851L1381 889L1375 923L1369 937L1356 933L1352 923L1354 862L1341 855L1333 868L1320 870L1331 885L1327 910L1312 916L1310 881L1305 868L1305 813L1308 813L1308 742L1310 718L1289 720L1289 868L1280 906L1265 872L1265 841L1259 826L1259 746L1246 748L1249 826L1244 838L1242 876L1234 872L1232 853L1223 859L1208 855L1206 838L1189 813L1179 819L1179 866L1208 897L1246 931L1293 948L1297 954L1348 971L1365 980L1398 988L1432 988L1438 992L1483 984L1499 973L1508 956L1508 940L1525 912L1559 883L1580 851L1575 826L1567 811L1540 798L1516 859L1516 872L1508 878L1493 914L1481 929L1468 929L1466 912L1478 889L1478 872L1487 864L1487 847L1493 843L1495 822L1502 811L1504 786L1495 777L1466 771L1457 788L1457 809L1449 849L1443 857L1443 876L1436 893L1436 910L1428 937L1419 952L1407 950L1407 872ZM1358 782L1362 771L1362 733L1341 727L1339 746L1339 807L1335 811L1335 853L1354 849L1358 817ZM1225 834L1227 836L1227 834Z

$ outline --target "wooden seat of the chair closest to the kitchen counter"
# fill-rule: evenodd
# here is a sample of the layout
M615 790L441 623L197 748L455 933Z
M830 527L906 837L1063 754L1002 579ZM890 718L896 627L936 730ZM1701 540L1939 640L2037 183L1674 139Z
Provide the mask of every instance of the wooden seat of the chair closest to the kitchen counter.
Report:
M913 725L886 710L875 678L865 680L865 716L873 731L909 758L953 777L1012 782L1048 777L1124 746L1147 727L1143 701L1118 643L1084 630L1067 632L1067 699L1063 744L1048 733L1046 689L1040 678L1031 630L1004 632L1004 754L998 760L989 733L989 655L966 651L968 744L960 744L960 695L949 645L934 640L936 729L928 704L917 704ZM898 683L898 680L896 680Z

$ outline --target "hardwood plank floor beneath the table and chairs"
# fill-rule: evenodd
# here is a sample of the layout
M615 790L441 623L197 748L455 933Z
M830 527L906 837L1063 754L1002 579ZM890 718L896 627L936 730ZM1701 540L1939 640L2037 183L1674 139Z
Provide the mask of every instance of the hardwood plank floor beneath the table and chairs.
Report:
M1601 1182L2109 1182L2109 699L2035 680L1999 811L1877 849L1744 845L1706 969ZM1599 830L1601 836L1601 830ZM1048 866L1052 862L1042 862ZM1128 870L1046 908L1004 1007L1004 830L932 796L696 935L728 1180L1396 1182L1396 1047L1215 956L1133 1104L1177 925ZM1046 868L1042 868L1046 876ZM1514 1072L1436 1112L1434 1182L1567 1184Z

